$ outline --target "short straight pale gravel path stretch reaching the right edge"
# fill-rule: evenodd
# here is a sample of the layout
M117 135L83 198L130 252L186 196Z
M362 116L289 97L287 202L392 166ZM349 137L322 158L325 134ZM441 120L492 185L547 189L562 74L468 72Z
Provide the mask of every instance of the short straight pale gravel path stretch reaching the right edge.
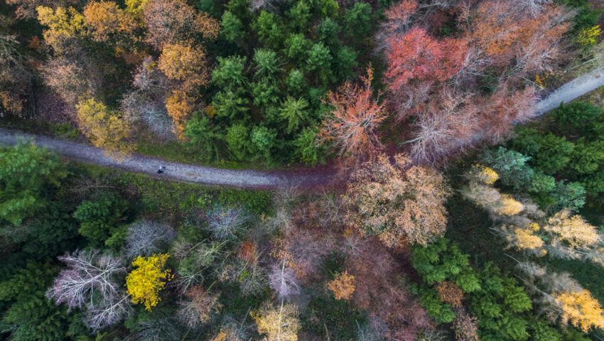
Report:
M534 114L535 116L541 116L551 109L559 107L561 103L571 102L573 99L592 92L602 85L604 85L604 66L595 68L551 92L541 102L537 102Z

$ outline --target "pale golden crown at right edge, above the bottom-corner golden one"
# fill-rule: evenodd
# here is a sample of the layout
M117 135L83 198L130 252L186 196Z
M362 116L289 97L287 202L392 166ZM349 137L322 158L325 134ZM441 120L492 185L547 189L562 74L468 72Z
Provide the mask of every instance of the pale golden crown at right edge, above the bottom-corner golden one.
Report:
M588 248L601 241L600 234L593 225L581 215L571 216L569 210L562 210L550 217L543 229L573 248Z

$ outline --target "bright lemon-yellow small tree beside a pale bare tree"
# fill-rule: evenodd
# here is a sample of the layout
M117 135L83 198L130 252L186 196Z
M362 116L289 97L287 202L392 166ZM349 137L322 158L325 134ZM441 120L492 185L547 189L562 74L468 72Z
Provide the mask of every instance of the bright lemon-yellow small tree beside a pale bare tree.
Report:
M126 293L136 304L144 304L146 310L151 310L159 302L159 292L171 281L173 275L170 269L163 269L169 254L154 254L149 257L138 256L132 261L132 270L126 276Z

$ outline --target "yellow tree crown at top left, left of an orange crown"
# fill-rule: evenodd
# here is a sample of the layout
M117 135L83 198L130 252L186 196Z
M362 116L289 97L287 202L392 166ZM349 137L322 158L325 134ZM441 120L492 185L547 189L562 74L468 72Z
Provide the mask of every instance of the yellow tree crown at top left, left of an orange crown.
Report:
M52 9L38 6L36 11L40 24L48 27L43 33L45 42L57 51L64 50L65 40L79 36L84 31L84 16L73 7Z

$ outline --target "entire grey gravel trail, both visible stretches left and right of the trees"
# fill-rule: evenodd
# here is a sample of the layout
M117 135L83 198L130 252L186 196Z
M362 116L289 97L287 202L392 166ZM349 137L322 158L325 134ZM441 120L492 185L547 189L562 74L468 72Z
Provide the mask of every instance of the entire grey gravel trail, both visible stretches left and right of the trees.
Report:
M534 116L538 117L558 107L562 102L571 102L604 85L604 67L598 67L577 77L547 97L536 103ZM335 170L325 168L304 171L251 171L230 170L185 163L163 161L148 156L132 155L117 161L105 155L102 149L87 144L53 139L47 136L26 134L20 131L0 128L0 144L14 145L19 139L33 139L36 144L56 151L75 161L93 163L99 166L119 168L134 173L144 173L153 178L203 183L205 185L225 185L237 188L276 189L286 187L318 188L333 183ZM163 173L157 174L159 166Z

